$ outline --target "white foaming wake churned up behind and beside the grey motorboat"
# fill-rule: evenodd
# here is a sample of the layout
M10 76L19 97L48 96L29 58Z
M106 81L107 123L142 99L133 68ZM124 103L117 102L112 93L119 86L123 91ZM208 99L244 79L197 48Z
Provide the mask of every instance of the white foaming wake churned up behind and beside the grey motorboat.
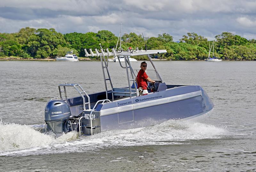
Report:
M219 139L230 132L225 128L182 120L169 120L162 124L111 130L83 138L70 132L55 138L44 134L44 125L9 124L0 121L0 156L26 156L67 152L89 152L108 147L190 144L191 140ZM40 132L41 130L41 132Z

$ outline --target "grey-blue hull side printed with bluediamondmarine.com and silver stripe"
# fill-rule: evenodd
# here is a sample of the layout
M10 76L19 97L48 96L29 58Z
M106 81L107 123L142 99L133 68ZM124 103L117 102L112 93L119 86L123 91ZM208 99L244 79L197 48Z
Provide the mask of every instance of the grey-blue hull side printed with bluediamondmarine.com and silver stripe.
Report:
M209 116L214 105L200 86L182 86L99 106L101 132ZM196 119L195 118L195 119Z

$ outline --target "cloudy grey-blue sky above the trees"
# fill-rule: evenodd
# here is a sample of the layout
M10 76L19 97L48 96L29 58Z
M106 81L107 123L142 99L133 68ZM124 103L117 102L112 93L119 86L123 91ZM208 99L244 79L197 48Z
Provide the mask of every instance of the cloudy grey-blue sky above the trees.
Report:
M0 32L54 28L62 34L108 30L116 36L188 32L213 40L222 32L256 39L256 0L0 0Z

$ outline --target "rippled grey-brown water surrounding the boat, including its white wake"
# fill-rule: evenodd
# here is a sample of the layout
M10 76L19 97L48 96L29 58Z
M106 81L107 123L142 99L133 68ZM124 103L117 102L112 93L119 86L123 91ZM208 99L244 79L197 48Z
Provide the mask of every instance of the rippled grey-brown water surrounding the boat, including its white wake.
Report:
M203 86L212 116L55 139L44 134L45 104L59 96L60 83L104 90L100 62L0 61L1 171L255 171L256 62L154 64L167 84ZM109 66L114 87L127 85L125 70Z

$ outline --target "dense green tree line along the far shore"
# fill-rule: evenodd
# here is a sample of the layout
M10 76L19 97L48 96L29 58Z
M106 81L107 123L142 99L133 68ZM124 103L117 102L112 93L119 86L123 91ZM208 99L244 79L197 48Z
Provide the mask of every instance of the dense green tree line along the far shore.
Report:
M104 48L116 48L117 39L118 37L107 30L62 34L53 28L26 27L16 33L0 33L0 56L40 59L64 56L73 50L74 54L84 57L84 48L99 49L99 43ZM142 35L124 33L121 39L124 50L128 47L145 49ZM212 41L194 32L187 33L179 42L173 42L173 37L167 33L145 38L145 41L148 49L166 49L167 53L158 55L157 58L168 60L204 60L209 54L209 44L212 44ZM215 36L214 56L223 60L256 60L256 40L223 32ZM144 58L137 57L139 60Z

